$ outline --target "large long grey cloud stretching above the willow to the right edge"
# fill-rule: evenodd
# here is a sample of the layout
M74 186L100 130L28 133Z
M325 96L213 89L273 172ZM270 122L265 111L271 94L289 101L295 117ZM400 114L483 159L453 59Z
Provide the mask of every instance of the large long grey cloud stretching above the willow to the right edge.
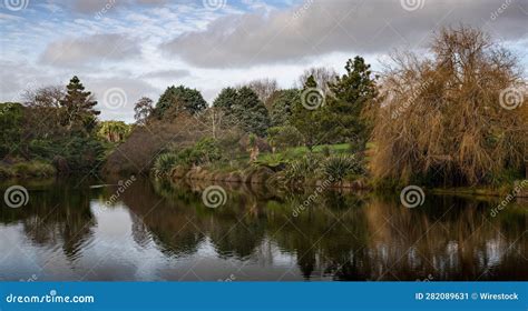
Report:
M306 0L290 10L217 19L160 46L204 68L300 62L330 52L379 53L423 47L442 26L481 27L500 40L526 37L528 6L492 0ZM501 9L501 7L503 9ZM495 14L495 16L493 16Z

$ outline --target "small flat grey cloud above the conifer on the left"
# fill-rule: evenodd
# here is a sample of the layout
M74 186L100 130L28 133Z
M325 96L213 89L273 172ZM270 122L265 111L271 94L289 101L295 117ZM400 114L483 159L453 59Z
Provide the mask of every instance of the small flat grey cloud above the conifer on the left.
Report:
M139 44L124 34L94 34L81 39L65 39L50 43L41 62L58 67L104 62L138 56Z

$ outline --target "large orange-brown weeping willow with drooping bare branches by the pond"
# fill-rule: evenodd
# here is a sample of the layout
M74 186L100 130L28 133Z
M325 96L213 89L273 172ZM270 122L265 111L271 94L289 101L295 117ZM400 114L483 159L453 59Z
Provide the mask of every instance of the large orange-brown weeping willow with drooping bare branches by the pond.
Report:
M480 30L436 36L430 57L393 56L375 108L378 178L434 184L500 181L527 152L521 66Z

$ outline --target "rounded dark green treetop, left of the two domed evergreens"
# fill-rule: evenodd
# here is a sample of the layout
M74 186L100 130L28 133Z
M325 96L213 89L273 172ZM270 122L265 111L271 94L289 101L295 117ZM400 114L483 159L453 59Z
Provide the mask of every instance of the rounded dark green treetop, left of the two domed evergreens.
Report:
M172 110L172 113L178 116L183 111L196 114L206 107L207 102L198 90L189 89L184 86L177 88L172 86L159 97L155 110L158 118L163 118L168 109Z

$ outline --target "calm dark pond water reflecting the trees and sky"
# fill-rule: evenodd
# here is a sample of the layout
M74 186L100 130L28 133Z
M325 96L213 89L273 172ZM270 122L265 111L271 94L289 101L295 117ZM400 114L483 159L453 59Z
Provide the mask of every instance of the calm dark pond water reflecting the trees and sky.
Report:
M212 209L207 184L18 183L30 200L0 209L0 280L528 280L526 201L492 217L495 198L408 209L398 193L326 191L299 209L313 190L222 184Z

